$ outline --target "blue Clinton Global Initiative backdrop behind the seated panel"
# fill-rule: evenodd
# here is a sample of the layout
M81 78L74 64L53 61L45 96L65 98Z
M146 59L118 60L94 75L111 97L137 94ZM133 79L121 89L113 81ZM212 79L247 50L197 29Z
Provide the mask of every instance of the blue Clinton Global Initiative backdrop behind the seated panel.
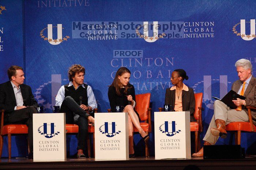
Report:
M238 78L234 63L246 58L256 66L255 34L245 37L255 30L255 25L250 29L256 14L253 4L244 0L1 0L7 10L0 14L4 30L0 32L4 49L0 80L7 81L11 65L24 67L26 84L51 112L57 90L68 83L68 68L78 63L86 68L85 82L93 88L99 112L106 112L108 85L115 71L126 66L136 94L151 93L154 125L154 111L164 104L171 73L182 68L189 76L185 84L195 93L204 93L202 139L213 115L211 96L223 97ZM244 26L246 35L241 32ZM154 133L150 137L150 155L154 155ZM255 153L255 137L242 134L241 145L248 154ZM68 154L74 155L76 136L67 138ZM135 135L135 152L143 155L140 139ZM233 135L217 144L229 144L231 139ZM6 143L3 157L8 154ZM12 156L24 155L15 149L16 143L13 140Z

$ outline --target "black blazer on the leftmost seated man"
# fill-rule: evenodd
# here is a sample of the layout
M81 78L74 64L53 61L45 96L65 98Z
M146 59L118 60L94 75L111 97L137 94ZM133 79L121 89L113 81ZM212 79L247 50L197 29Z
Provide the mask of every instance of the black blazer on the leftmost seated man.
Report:
M23 100L26 99L27 105L38 106L37 101L35 101L34 99L34 95L32 94L30 86L26 84L21 84L20 91ZM16 105L17 104L15 94L11 82L7 81L3 84L0 84L0 109L4 109L5 113L10 113L14 111Z

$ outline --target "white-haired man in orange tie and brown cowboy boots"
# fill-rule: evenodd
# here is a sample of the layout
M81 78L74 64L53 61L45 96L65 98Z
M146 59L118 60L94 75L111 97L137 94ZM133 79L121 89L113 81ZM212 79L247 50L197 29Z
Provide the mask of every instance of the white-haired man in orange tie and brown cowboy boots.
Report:
M248 59L240 59L235 64L239 80L232 85L232 90L246 97L245 100L237 98L232 100L237 109L231 109L220 100L214 102L214 115L204 136L204 145L214 145L219 136L227 137L226 125L236 121L249 121L245 106L256 107L256 78L252 76L252 64ZM253 124L256 125L256 112L252 111ZM192 154L193 157L203 157L203 148Z

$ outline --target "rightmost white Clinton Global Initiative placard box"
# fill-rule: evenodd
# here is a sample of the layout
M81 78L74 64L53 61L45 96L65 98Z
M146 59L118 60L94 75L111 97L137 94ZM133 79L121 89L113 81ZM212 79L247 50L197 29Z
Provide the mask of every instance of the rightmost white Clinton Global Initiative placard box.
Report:
M189 112L155 112L155 159L191 158Z

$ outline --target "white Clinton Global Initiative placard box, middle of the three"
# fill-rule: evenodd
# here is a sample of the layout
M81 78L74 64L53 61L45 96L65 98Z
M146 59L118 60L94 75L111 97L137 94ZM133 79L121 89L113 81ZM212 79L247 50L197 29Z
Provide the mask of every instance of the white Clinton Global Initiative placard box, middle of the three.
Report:
M129 159L128 113L95 113L95 159Z

